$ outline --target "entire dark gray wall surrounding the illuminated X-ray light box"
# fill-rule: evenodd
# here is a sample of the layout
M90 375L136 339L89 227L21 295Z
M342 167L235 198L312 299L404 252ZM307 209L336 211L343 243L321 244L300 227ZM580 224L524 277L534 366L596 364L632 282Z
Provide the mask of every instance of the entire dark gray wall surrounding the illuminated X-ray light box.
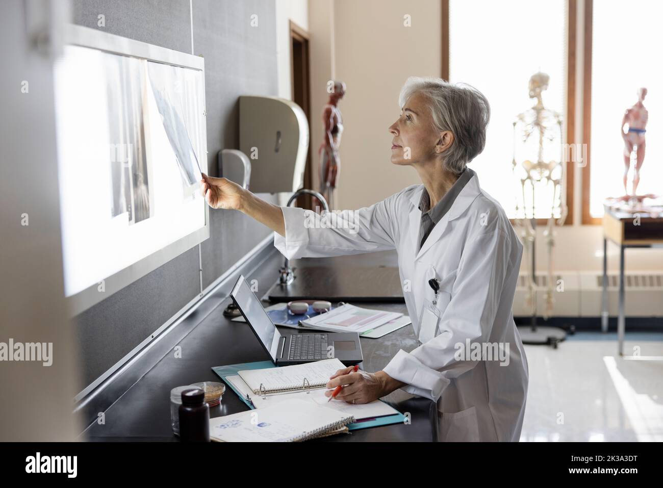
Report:
M208 168L217 152L237 149L237 97L276 95L274 0L75 0L74 23L205 58ZM252 14L259 27L250 27ZM105 27L97 27L98 15ZM200 245L203 287L271 231L235 211L210 210L210 239ZM133 282L76 318L82 383L90 385L200 293L198 246Z

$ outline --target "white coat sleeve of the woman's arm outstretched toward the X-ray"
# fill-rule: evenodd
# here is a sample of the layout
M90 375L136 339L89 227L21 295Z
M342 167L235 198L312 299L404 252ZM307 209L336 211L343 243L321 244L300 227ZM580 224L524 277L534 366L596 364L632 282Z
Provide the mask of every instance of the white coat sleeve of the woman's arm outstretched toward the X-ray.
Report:
M285 236L274 232L274 247L288 259L330 257L395 249L396 198L370 207L317 214L281 207Z

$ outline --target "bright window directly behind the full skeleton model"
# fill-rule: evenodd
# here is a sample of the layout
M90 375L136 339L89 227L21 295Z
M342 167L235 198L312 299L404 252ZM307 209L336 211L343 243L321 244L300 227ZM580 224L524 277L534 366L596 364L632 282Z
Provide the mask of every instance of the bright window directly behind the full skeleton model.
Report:
M516 215L522 186L512 170L513 123L536 101L528 91L533 74L550 76L544 106L566 117L566 19L567 0L450 0L450 82L474 86L491 104L486 147L470 167L511 218L523 216ZM566 142L564 127L558 145ZM536 193L536 217L550 217L550 200L545 190Z

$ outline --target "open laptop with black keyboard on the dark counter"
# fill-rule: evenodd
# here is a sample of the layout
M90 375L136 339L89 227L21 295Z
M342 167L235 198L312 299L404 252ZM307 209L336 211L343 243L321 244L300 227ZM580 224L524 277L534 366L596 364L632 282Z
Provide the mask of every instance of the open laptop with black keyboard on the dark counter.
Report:
M352 366L363 360L357 332L321 331L281 335L244 276L239 276L230 296L276 366L310 363L331 357L337 357L344 365ZM332 349L329 349L330 345Z

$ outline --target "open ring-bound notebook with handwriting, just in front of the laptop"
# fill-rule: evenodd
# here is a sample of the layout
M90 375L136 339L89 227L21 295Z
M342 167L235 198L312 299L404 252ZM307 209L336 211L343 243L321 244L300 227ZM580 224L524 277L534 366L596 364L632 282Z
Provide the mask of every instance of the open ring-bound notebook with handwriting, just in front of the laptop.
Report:
M323 388L330 376L345 366L337 358L280 368L245 369L237 374L256 395Z

